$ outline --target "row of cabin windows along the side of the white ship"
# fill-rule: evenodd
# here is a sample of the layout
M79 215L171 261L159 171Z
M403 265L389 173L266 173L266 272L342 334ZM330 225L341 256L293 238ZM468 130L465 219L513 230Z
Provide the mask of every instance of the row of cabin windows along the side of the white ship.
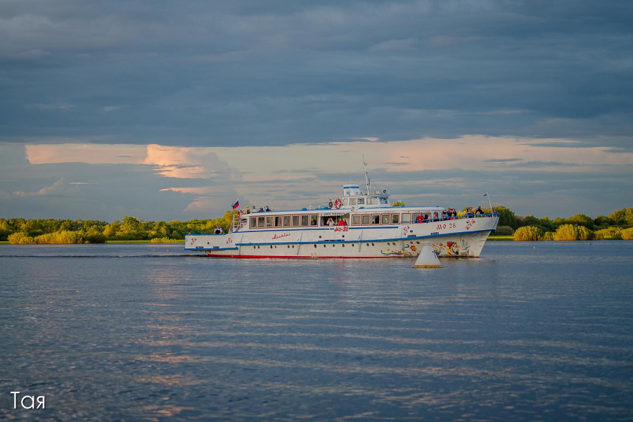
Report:
M380 226L391 224L409 224L414 221L418 214L358 214L352 215L352 226ZM318 227L328 226L328 219L331 217L321 217L319 224L318 214L302 215L266 215L249 217L249 229L269 229L274 227ZM345 225L347 221L344 220Z

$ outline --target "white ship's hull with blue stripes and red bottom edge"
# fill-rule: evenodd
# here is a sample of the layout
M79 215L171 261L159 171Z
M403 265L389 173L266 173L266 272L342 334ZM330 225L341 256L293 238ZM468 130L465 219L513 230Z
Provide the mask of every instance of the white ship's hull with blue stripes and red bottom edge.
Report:
M315 229L243 230L186 236L186 250L231 258L394 258L416 257L423 242L438 257L480 256L495 216L383 227L335 226Z

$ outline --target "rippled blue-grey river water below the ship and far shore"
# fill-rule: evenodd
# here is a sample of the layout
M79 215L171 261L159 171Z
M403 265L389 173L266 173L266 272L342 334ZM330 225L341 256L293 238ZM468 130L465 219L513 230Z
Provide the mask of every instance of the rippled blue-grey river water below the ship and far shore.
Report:
M480 260L0 246L0 418L633 418L633 242ZM10 391L46 395L12 410Z

